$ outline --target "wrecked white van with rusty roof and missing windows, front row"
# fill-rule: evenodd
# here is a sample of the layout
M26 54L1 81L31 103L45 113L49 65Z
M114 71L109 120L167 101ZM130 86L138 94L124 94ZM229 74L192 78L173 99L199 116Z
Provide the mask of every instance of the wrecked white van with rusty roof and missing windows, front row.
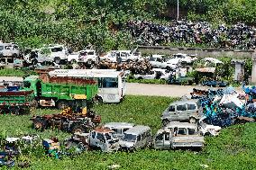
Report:
M90 131L89 146L103 152L112 152L120 148L119 139L114 139L113 130L97 128Z

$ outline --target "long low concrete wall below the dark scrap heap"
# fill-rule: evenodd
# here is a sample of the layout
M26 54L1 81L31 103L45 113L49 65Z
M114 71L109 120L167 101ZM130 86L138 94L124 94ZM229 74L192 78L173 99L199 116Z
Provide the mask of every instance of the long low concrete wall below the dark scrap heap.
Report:
M185 53L190 55L197 54L197 57L235 57L235 58L251 58L254 50L239 49L198 49L198 48L171 48L168 46L139 46L138 49L144 53L151 54L176 54Z

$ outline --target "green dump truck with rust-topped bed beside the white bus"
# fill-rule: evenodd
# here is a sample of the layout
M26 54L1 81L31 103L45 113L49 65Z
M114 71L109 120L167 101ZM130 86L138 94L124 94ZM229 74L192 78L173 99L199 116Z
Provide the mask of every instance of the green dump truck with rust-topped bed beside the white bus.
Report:
M71 77L51 77L42 81L39 76L27 76L23 81L23 89L33 91L33 105L66 107L85 107L97 94L97 82L94 80Z

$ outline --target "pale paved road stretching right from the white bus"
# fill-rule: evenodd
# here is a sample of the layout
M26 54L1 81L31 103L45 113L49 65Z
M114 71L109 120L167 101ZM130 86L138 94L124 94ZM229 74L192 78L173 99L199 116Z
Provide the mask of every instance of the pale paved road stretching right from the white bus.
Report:
M152 84L138 84L127 83L126 94L133 95L155 95L155 96L172 96L181 97L190 94L193 88L209 89L206 86L192 86L192 85L152 85ZM242 92L241 88L235 90Z

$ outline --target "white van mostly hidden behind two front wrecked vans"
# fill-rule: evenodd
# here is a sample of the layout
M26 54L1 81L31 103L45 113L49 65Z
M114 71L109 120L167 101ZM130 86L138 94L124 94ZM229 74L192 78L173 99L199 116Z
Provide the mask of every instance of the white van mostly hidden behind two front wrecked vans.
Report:
M113 136L115 139L123 139L124 132L133 128L134 126L134 123L128 122L108 122L105 123L103 127L113 130Z

